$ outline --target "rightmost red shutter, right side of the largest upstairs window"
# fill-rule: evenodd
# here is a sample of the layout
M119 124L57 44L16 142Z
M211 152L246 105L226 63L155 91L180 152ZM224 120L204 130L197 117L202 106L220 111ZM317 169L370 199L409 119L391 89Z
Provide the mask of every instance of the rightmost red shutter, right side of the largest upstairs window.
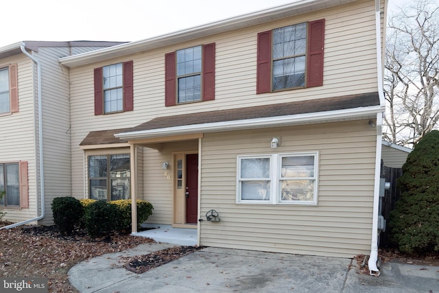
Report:
M323 85L324 19L308 23L307 87Z

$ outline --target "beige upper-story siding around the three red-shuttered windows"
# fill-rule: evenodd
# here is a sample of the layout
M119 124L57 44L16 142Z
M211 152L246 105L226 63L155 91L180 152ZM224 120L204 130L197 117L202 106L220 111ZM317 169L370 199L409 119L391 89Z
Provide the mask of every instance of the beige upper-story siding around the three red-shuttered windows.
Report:
M326 23L324 85L256 95L257 34L276 27L322 18ZM165 54L213 42L216 44L215 100L165 107ZM93 69L128 60L133 60L134 66L134 110L95 116ZM375 4L374 1L360 0L281 21L71 68L73 194L84 194L83 152L79 143L90 131L137 126L158 116L376 92L376 60Z

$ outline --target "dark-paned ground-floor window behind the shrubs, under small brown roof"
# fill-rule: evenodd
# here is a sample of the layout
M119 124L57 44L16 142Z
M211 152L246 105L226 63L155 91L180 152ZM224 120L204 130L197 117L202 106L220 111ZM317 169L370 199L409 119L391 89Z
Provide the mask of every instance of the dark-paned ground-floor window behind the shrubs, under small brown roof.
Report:
M130 198L130 154L88 156L88 192L94 200Z

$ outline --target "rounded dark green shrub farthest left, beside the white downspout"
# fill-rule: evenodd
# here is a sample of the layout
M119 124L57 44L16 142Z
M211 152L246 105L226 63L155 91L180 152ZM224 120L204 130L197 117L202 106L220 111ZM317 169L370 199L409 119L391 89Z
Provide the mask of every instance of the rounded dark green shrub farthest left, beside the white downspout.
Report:
M71 196L54 198L51 203L54 222L60 233L71 234L79 226L84 208L79 200Z

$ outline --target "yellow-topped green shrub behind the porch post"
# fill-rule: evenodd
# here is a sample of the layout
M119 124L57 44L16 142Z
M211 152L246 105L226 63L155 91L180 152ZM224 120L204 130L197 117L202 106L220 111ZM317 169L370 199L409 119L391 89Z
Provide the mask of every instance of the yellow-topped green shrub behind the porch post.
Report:
M119 225L117 230L130 231L131 229L131 200L112 200L110 204L115 204L119 209ZM137 227L152 215L152 204L146 200L137 200Z

